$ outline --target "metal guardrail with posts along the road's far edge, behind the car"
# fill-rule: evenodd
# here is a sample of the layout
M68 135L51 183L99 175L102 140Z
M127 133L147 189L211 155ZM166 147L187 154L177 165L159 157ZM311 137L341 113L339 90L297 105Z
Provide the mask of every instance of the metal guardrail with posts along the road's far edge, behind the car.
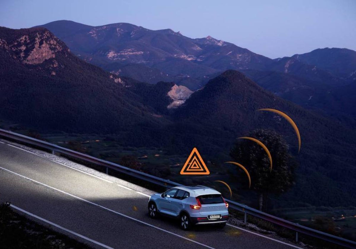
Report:
M108 174L108 170L109 169L113 169L113 170L118 171L120 173L123 173L123 174L126 174L126 175L130 175L130 176L132 176L134 178L137 178L137 179L140 179L140 180L144 180L144 181L147 181L147 182L159 185L159 186L164 186L164 187L183 186L182 184L179 184L177 182L173 182L173 181L170 181L170 180L165 180L165 179L153 176L153 175L149 175L149 174L143 173L141 171L133 170L133 169L124 167L122 165L112 163L110 161L106 161L106 160L102 160L102 159L99 159L99 158L95 158L95 157L92 157L90 155L86 155L86 154L83 154L83 153L80 153L80 152L76 152L74 150L63 148L63 147L60 147L58 145L51 144L51 143L48 143L48 142L45 142L45 141L42 141L42 140L39 140L39 139L36 139L36 138L27 137L27 136L24 136L24 135L15 133L15 132L11 132L11 131L6 131L4 129L0 129L0 136L5 137L5 138L10 138L10 139L13 139L15 141L20 141L20 142L23 142L23 143L36 145L36 146L44 148L44 149L51 150L52 154L61 153L61 154L64 154L64 155L69 155L71 157L87 161L89 163L94 163L94 164L97 164L97 165L104 166L106 168L106 173L107 174ZM244 222L245 223L247 221L247 214L250 214L250 215L255 216L257 218L263 219L265 221L268 221L268 222L271 222L273 224L277 224L279 226L282 226L282 227L285 227L285 228L288 228L288 229L291 229L291 230L295 231L296 232L295 240L297 242L298 242L298 233L303 233L303 234L306 234L306 235L309 235L309 236L312 236L312 237L315 237L315 238L319 238L319 239L325 240L327 242L331 242L331 243L334 243L334 244L337 244L337 245L341 245L343 247L356 248L356 242L354 242L354 241L347 240L347 239L344 239L344 238L341 238L341 237L337 237L335 235L331 235L331 234L328 234L328 233L320 232L318 230L315 230L315 229L312 229L312 228L309 228L309 227L304 227L302 225L287 221L285 219L278 218L278 217L273 216L271 214L261 212L259 210L256 210L254 208L248 207L246 205L243 205L243 204L240 204L240 203L237 203L237 202L234 202L234 201L230 201L230 200L226 200L226 201L229 203L229 207L230 208L244 213Z

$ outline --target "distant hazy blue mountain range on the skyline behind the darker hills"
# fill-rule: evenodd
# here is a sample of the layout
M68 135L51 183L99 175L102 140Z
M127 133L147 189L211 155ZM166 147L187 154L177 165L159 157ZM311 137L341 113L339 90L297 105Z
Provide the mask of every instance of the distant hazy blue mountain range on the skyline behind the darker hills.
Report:
M277 96L354 123L348 103L356 93L356 52L350 49L323 48L270 59L210 36L193 39L129 23L94 27L62 20L38 27L112 74L151 84L175 82L195 91L225 70L239 70Z

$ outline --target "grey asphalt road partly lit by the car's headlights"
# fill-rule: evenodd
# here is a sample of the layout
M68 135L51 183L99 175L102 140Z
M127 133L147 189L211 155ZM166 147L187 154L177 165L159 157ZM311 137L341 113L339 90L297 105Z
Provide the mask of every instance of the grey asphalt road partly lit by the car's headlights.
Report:
M182 231L174 220L148 217L141 192L0 143L5 201L96 248L296 248L232 226Z

